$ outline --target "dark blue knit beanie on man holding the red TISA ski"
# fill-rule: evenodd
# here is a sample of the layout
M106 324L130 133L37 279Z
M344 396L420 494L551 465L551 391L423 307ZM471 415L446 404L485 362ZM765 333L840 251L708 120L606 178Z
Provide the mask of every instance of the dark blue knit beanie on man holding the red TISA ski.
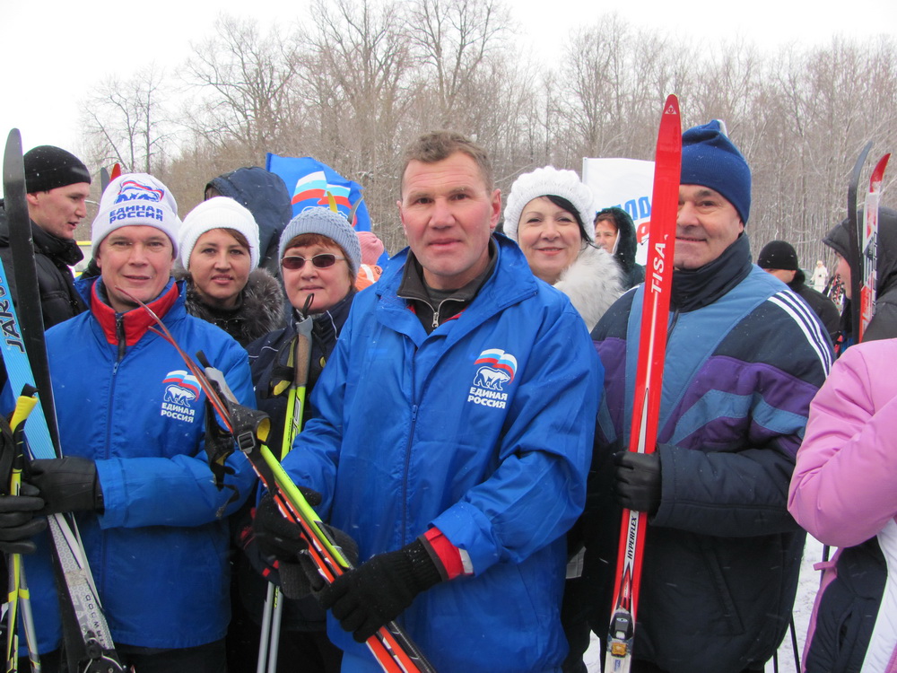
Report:
M683 185L703 185L718 191L735 206L741 221L751 213L751 169L726 135L726 127L713 119L682 135Z

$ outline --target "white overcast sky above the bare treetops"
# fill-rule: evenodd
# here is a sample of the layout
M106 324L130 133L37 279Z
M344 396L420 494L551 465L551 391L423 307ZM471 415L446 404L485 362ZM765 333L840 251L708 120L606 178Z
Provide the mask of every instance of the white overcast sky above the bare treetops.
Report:
M708 45L739 33L761 48L789 42L827 44L834 35L897 38L897 0L508 0L520 25L521 51L537 50L544 62L560 59L565 35L616 12L633 26L684 33ZM210 36L217 13L251 15L263 26L287 26L308 15L309 0L159 0L152 4L107 0L0 0L0 135L22 131L25 150L57 144L79 150L79 104L103 75L135 74L155 62L169 73L189 55L190 43ZM289 8L289 13L285 13ZM548 11L548 8L551 11Z

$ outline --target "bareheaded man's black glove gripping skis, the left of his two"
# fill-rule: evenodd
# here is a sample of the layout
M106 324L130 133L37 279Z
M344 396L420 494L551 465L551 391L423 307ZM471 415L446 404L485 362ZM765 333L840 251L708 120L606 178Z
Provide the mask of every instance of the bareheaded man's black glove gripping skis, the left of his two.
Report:
M301 486L300 491L312 507L321 503L317 491ZM350 564L358 563L358 545L353 538L327 524L320 526ZM269 576L270 581L279 583L287 598L301 599L324 588L324 578L309 555L304 553L309 545L302 537L300 525L283 517L271 494L266 494L258 503L252 529L259 553L277 562L275 569L279 581L274 573Z

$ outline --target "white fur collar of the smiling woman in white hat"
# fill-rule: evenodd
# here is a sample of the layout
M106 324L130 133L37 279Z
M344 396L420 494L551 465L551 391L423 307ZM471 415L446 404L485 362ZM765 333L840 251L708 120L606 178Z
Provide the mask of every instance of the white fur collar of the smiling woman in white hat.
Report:
M605 250L588 245L554 287L566 294L591 332L598 319L623 294L620 266Z

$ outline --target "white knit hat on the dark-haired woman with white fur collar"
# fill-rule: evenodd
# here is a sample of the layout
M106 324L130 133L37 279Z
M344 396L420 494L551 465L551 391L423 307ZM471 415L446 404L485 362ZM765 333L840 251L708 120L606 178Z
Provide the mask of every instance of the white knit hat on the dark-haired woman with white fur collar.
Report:
M510 187L508 204L505 205L504 233L510 239L518 240L520 214L534 198L566 198L576 208L579 219L585 227L588 240L595 240L595 209L592 190L584 185L573 170L558 170L553 166L524 173Z

